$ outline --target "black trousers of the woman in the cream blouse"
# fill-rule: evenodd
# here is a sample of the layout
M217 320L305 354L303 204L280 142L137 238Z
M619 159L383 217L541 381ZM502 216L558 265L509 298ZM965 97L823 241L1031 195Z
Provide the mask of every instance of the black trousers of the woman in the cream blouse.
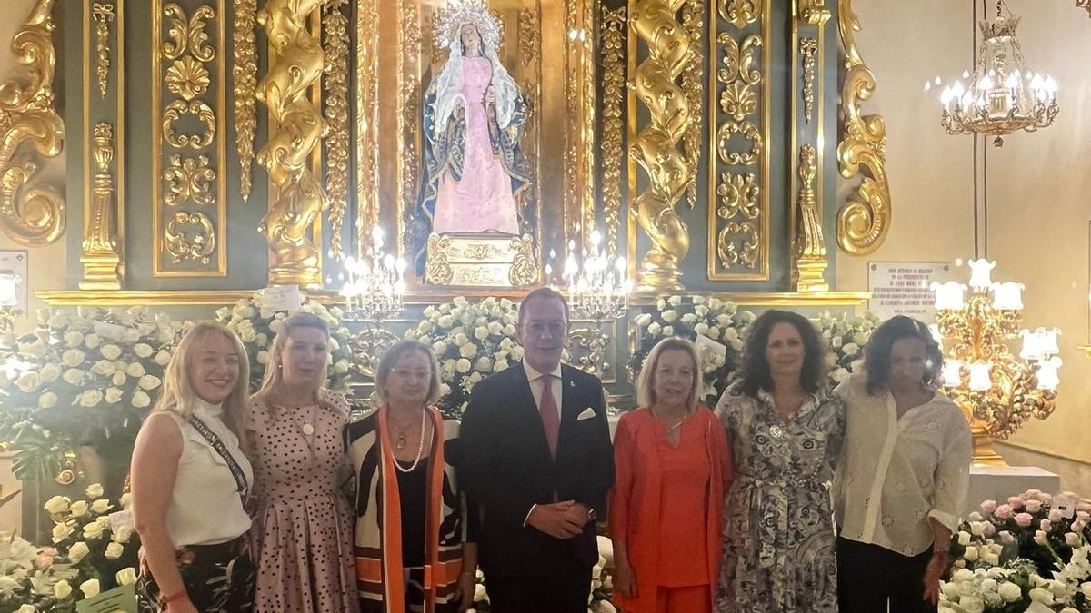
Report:
M932 548L901 555L879 545L837 539L837 600L841 613L934 613L924 600L924 572Z

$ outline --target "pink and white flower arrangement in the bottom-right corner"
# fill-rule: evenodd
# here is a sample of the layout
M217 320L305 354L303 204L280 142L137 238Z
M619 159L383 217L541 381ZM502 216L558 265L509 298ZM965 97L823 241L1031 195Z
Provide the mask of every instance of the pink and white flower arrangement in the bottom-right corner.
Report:
M1052 508L1051 494L1029 490L971 513L951 537L940 613L1091 611L1091 502L1064 495L1075 509Z

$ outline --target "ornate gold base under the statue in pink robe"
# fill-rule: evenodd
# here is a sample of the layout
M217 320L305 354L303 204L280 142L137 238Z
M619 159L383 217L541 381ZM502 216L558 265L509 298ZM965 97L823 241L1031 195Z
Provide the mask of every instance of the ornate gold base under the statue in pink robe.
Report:
M527 287L538 283L528 235L432 235L424 283L465 287Z

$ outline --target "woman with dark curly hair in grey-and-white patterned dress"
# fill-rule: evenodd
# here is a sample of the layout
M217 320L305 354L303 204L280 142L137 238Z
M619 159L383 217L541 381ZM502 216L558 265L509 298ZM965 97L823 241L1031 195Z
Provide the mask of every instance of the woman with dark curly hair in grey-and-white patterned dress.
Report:
M754 322L740 378L716 407L735 470L719 613L837 613L829 481L844 406L826 388L825 351L805 317L767 311Z

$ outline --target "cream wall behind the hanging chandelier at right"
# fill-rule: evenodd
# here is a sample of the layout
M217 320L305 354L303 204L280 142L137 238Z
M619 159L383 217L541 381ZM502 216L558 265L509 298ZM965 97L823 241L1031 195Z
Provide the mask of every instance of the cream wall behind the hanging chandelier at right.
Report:
M1067 0L1008 4L1022 15L1019 36L1028 65L1057 79L1062 108L1053 127L1011 136L1000 149L990 147L988 257L997 261L994 279L1027 286L1026 325L1063 330L1064 360L1056 412L1030 423L1010 443L1091 462L1091 361L1077 349L1089 335L1091 19ZM877 80L865 109L887 123L894 225L874 254L839 253L840 290L867 289L868 261L973 255L972 144L968 136L944 133L937 92L923 91L928 79L949 81L971 65L972 4L856 0L853 5L863 26L856 41Z

